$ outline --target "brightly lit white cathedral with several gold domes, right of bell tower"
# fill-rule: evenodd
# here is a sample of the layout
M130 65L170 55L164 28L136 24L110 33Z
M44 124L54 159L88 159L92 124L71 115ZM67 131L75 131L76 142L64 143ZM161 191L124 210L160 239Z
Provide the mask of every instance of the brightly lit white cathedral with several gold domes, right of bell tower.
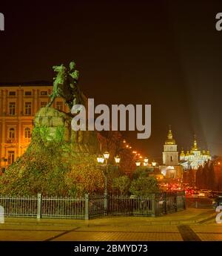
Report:
M208 151L201 151L200 148L198 148L198 142L196 140L196 137L194 138L194 142L192 145L192 148L190 151L186 151L186 154L184 154L184 150L181 151L180 154L180 162L181 165L184 166L184 169L194 169L197 170L200 165L203 165L204 162L207 160L211 160L211 155Z

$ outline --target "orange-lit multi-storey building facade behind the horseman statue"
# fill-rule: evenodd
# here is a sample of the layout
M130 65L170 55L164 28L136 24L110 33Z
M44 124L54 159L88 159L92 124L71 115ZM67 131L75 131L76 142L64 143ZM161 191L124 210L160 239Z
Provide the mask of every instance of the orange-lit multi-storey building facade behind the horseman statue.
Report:
M4 171L24 154L30 144L33 119L39 108L49 102L53 86L49 82L0 84L0 168ZM57 98L53 108L67 112L64 99Z

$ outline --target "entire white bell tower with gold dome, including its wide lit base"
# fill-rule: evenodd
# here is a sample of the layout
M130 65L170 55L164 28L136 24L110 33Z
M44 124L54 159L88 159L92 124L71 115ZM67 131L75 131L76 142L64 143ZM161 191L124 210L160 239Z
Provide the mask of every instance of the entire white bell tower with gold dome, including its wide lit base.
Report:
M171 128L169 128L167 139L164 144L163 165L160 165L161 174L166 182L178 182L183 178L183 166L179 163L178 145L172 137Z

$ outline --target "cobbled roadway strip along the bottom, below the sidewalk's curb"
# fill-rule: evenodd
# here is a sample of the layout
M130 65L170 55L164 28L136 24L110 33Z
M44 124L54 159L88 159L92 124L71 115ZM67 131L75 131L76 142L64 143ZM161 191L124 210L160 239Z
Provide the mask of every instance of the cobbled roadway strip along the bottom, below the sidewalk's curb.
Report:
M217 225L217 226L216 226ZM28 241L222 241L222 225L7 226L0 240Z

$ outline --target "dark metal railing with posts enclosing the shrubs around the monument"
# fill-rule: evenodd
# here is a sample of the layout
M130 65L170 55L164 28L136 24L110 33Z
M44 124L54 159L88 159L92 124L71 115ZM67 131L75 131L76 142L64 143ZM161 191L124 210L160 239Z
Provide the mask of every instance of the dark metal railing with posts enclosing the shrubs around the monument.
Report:
M0 195L5 217L57 217L89 220L104 215L159 216L185 209L184 192L155 193L146 197L109 194L107 211L104 194L72 197L10 197Z

